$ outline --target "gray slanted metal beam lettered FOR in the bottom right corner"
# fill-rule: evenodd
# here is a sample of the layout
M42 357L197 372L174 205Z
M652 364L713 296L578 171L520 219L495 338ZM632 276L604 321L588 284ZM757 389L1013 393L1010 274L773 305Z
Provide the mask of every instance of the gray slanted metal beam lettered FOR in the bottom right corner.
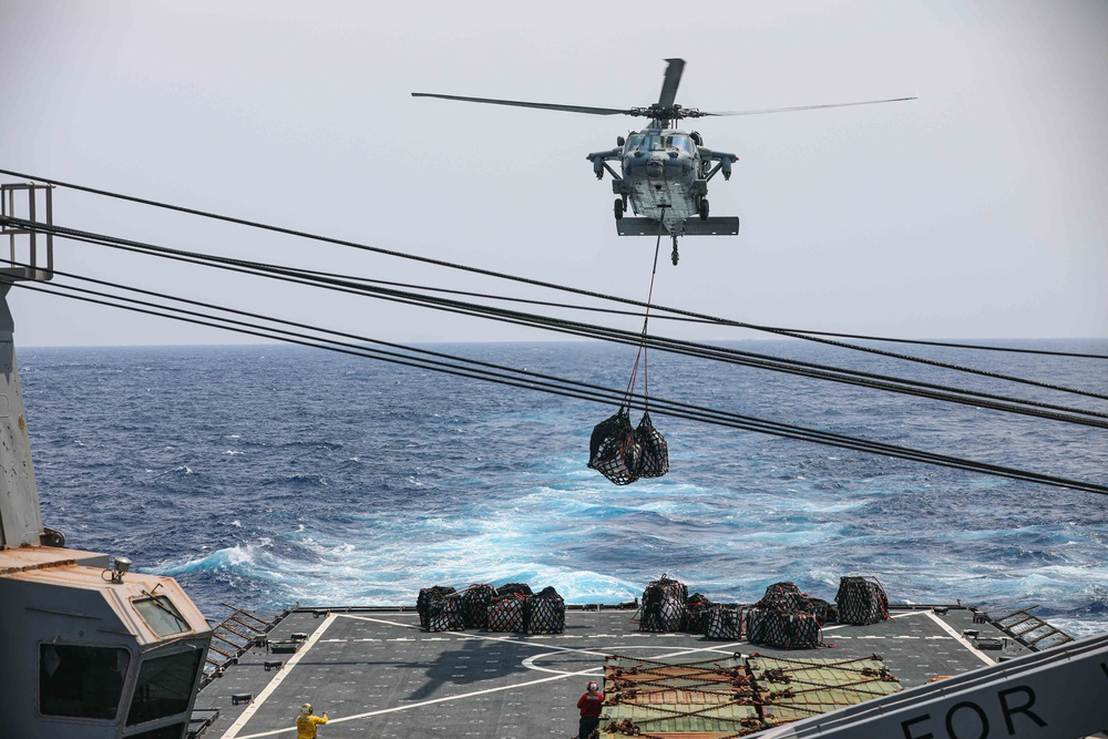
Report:
M755 735L1068 739L1108 726L1108 634Z

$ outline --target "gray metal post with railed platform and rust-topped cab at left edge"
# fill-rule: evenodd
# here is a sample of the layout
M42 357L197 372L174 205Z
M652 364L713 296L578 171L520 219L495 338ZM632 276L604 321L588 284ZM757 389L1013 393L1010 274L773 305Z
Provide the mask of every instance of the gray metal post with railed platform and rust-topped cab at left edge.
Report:
M13 209L13 193L28 195L33 220L40 189L33 184L3 186L0 227L4 233L10 233L7 218ZM51 216L49 205L47 216ZM17 235L29 242L32 256L28 263L17 261ZM8 307L13 281L51 276L52 255L48 249L48 269L39 269L34 236L33 230L12 233L10 260L7 266L0 260L0 698L4 728L13 737L120 739L148 737L152 731L158 737L183 737L212 638L203 614L172 578L121 576L107 569L106 554L42 546L42 514L16 361L14 321ZM191 675L193 660L196 669Z

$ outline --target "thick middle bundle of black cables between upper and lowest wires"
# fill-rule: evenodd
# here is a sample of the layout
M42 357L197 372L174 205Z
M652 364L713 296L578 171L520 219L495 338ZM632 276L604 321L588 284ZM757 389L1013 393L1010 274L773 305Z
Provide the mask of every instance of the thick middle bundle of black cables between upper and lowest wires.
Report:
M481 306L476 304L469 304L456 300L432 298L429 296L414 292L377 288L372 286L361 285L350 280L318 278L318 277L312 277L310 275L306 276L304 275L302 271L295 268L276 267L273 265L266 265L261 263L230 259L227 257L217 257L217 256L203 255L191 252L182 252L179 249L171 249L168 247L161 247L151 244L144 244L141 242L133 242L130 239L120 239L115 237L102 236L96 234L88 234L85 232L79 232L71 228L64 228L61 226L44 226L43 230L45 230L47 233L54 233L60 236L65 236L69 238L74 238L76 240L83 240L86 243L100 244L103 246L113 246L117 248L138 250L142 253L150 253L155 255L167 255L171 258L179 258L182 260L191 261L193 264L217 266L220 268L227 268L235 271L245 271L246 274L271 276L274 279L290 281L294 284L325 287L327 289L332 289L338 291L371 295L373 297L378 297L386 300L392 300L406 305L433 307L450 312L492 318L495 320L501 320L504 322L510 322L521 326L547 328L550 330L571 333L574 336L599 338L620 343L638 343L644 340L643 338L625 330L612 329L607 327L599 327L575 321L553 319L545 316L535 316L532 314L491 308L488 306ZM55 270L55 274L62 274L62 273L58 273ZM668 339L665 337L657 337L657 336L647 337L645 341L649 346L671 351L675 353L683 353L704 359L712 359L716 361L725 361L729 363L745 365L760 369L781 371L791 374L809 377L812 379L823 379L837 382L845 382L849 384L856 384L871 389L914 394L919 397L929 398L932 400L942 400L962 404L979 406L992 410L1002 410L1008 412L1023 413L1027 415L1036 415L1039 418L1046 418L1051 420L1085 423L1087 425L1098 425L1101 428L1106 428L1104 421L1100 420L1094 421L1091 419L1108 419L1108 413L1101 413L1097 411L1075 409L1070 407L1056 406L1040 401L1013 399L1005 396L998 396L995 393L985 393L975 390L950 388L934 383L925 383L917 380L906 380L903 378L875 374L872 372L862 372L859 370L828 367L813 362L788 360L767 355L760 355L756 352L740 351L736 349L726 349L711 345L681 341L677 339ZM1087 418L1081 418L1081 417L1087 417Z

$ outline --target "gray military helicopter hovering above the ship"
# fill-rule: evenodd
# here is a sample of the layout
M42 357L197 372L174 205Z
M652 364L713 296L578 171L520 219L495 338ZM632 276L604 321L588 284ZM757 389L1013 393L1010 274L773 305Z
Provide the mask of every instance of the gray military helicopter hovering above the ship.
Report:
M845 107L849 105L872 105L896 103L915 97L893 97L889 100L866 100L855 103L831 103L825 105L802 105L798 107L774 107L767 110L708 112L677 104L677 86L685 71L684 59L667 59L661 94L658 102L645 107L592 107L586 105L562 105L557 103L531 103L517 100L494 100L490 97L465 97L430 92L413 92L412 97L440 97L471 103L536 107L547 111L566 111L589 115L635 115L650 120L646 129L616 137L616 147L592 152L586 158L593 163L597 179L604 173L612 175L612 192L617 196L613 205L616 233L620 236L657 236L668 233L673 237L671 256L677 265L679 255L677 239L680 236L737 236L738 216L711 216L708 205L708 181L717 174L724 179L731 178L731 165L738 156L706 147L697 131L685 132L675 127L684 119L722 115L758 115L783 113L821 107ZM608 162L620 162L616 172ZM636 218L625 217L628 206Z

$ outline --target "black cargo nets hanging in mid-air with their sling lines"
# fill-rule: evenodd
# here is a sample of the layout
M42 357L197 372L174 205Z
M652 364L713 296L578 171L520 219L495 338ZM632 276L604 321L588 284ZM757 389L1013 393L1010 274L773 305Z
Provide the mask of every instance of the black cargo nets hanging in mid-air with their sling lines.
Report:
M660 236L659 244L660 244ZM658 269L658 250L654 252L654 269ZM660 478L669 472L669 447L661 432L654 428L649 410L649 373L647 371L646 329L650 320L650 300L654 297L654 273L650 275L650 292L646 301L643 319L643 341L635 357L630 380L624 402L615 415L601 421L593 428L588 441L588 466L596 470L617 485L629 485L642 478ZM638 379L639 363L643 366L643 418L637 427L630 424L630 404Z

